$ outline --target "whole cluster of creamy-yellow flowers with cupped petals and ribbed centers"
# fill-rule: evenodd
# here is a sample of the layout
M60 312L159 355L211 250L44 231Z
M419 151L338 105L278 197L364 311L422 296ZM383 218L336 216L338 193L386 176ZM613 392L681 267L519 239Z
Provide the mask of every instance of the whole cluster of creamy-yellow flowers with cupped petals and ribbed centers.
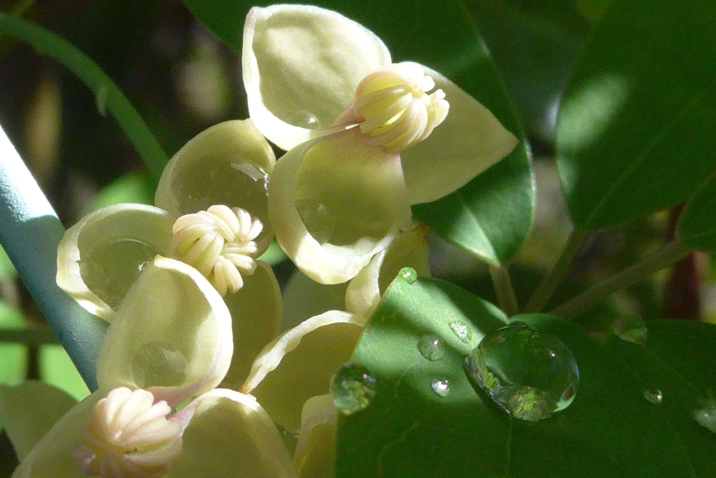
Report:
M397 271L430 274L410 206L517 143L447 78L393 63L333 11L251 9L242 57L251 119L188 142L155 206L111 206L67 230L57 283L110 322L100 388L16 476L332 476L330 377ZM287 150L278 162L266 139ZM274 234L296 281L350 281L337 306L282 316L299 294L282 298L259 260ZM298 434L293 458L279 429Z

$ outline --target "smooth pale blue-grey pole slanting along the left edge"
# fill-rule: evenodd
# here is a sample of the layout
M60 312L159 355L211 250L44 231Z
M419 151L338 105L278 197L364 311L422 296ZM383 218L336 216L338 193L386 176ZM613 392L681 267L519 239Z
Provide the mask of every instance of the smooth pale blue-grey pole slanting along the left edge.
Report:
M55 282L64 227L0 127L0 243L90 390L107 323Z

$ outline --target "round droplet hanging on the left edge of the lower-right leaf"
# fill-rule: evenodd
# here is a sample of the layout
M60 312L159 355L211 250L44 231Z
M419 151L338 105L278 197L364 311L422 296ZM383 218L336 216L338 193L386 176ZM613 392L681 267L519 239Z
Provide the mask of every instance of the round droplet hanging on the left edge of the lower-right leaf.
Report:
M370 405L377 384L375 377L356 364L343 366L331 379L333 403L344 415L352 415Z

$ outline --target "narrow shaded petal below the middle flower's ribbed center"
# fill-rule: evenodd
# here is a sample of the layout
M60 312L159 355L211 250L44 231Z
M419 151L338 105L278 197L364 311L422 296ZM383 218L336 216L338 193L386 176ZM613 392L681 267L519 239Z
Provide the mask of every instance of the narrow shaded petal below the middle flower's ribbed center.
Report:
M224 297L231 311L233 358L221 386L240 386L254 358L281 332L283 306L281 288L271 266L261 260L252 275L244 278L241 291Z

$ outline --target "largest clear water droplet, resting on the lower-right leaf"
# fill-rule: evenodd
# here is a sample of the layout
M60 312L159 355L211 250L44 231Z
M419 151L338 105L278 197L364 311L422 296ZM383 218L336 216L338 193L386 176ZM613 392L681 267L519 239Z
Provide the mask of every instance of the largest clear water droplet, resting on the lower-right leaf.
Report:
M550 333L507 326L485 336L465 359L475 386L515 418L537 421L566 409L579 369L569 348Z

